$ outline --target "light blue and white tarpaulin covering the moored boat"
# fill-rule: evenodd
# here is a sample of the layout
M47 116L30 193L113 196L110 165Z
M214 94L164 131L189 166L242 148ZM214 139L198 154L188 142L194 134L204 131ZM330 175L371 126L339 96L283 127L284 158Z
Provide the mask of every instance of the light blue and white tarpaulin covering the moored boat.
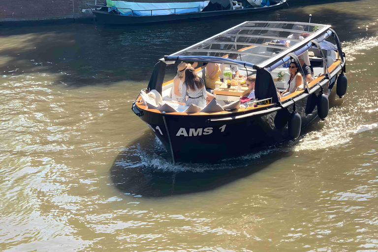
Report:
M117 10L121 15L156 16L180 13L201 12L210 0L196 2L128 2L106 0L111 10ZM133 12L131 11L133 10ZM153 10L153 11L151 11ZM134 13L134 14L133 14Z

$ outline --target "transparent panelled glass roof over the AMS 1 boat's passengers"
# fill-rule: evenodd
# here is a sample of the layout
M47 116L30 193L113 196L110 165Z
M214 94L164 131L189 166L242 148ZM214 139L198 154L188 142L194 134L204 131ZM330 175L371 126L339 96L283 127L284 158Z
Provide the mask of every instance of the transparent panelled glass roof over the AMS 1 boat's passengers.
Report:
M167 58L172 60L177 56L184 56L180 58L190 61L190 58L203 60L206 56L210 56L209 59L213 59L214 62L215 57L224 59L228 54L233 53L238 55L235 63L247 62L265 67L274 63L275 59L282 59L288 53L300 49L329 28L328 25L311 23L249 21L171 54Z

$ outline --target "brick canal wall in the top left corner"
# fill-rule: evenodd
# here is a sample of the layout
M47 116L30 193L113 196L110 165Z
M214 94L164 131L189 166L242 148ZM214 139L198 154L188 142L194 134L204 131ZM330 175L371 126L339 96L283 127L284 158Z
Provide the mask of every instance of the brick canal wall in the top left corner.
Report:
M82 17L86 3L95 0L0 0L0 21L46 20Z

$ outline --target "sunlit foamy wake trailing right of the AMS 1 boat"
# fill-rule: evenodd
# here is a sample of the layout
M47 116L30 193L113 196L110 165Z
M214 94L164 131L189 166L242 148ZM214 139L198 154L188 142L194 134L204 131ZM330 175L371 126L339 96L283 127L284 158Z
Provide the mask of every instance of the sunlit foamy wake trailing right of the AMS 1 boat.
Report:
M347 55L347 94L339 99L330 97L330 110L325 121L318 118L302 133L292 151L319 150L345 144L366 130L377 128L378 101L377 80L369 72L375 72L378 35L343 43ZM360 65L372 69L361 69ZM332 93L331 93L332 94Z

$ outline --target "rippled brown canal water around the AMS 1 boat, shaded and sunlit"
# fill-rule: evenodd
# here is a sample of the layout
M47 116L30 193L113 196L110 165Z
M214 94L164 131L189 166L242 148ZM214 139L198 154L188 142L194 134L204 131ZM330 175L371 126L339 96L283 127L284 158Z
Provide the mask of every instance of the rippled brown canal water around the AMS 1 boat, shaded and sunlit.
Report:
M1 24L0 251L378 251L378 6L289 3L128 28ZM161 56L310 13L344 41L349 86L298 140L174 165L131 112Z

